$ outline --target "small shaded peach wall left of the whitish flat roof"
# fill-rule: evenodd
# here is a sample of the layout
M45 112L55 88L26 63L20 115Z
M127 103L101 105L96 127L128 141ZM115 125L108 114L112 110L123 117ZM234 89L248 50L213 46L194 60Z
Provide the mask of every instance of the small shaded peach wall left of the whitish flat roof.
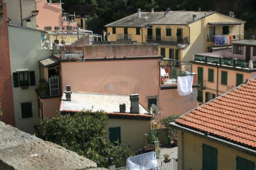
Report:
M59 110L60 97L40 99L40 102L42 103L42 112L44 114L44 118L53 117L56 114L56 111ZM42 118L42 112L41 109L39 109L40 119Z

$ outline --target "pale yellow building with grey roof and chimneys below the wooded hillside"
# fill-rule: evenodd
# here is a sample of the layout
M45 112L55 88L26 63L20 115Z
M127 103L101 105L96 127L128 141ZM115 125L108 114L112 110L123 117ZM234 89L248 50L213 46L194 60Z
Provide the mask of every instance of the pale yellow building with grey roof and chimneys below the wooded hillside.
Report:
M170 11L138 12L106 25L109 41L133 40L158 43L159 55L190 61L196 53L222 50L214 37L230 36L243 39L245 21L217 12Z

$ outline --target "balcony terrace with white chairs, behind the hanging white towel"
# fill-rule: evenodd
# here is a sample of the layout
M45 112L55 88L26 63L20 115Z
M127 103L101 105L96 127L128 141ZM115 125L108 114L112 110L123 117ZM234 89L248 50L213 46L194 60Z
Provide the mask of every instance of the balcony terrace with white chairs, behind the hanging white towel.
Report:
M181 76L193 76L193 85L197 84L197 74L192 72L192 64L179 60L162 60L160 62L160 86L177 87L177 79Z

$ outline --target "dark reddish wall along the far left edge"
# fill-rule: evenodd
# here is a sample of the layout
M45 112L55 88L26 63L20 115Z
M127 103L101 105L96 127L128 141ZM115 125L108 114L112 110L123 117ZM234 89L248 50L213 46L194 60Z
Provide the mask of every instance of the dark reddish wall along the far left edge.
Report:
M0 104L4 114L0 116L0 120L15 126L8 22L5 21L7 20L6 4L3 4L3 12L4 17L0 17Z

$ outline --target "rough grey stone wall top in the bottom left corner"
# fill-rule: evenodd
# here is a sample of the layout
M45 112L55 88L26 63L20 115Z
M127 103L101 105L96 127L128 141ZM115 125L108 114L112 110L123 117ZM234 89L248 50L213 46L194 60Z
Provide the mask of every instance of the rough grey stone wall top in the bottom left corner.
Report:
M0 122L0 169L105 169L75 152Z

